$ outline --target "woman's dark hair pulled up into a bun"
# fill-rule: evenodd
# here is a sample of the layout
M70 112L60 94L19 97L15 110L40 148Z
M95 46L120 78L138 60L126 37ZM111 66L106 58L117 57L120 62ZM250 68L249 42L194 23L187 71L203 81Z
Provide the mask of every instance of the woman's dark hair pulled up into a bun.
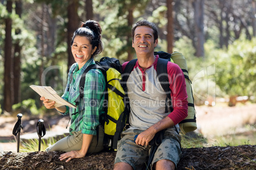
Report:
M89 39L90 44L92 44L92 49L97 47L96 51L92 54L92 57L98 55L103 51L103 42L101 41L101 26L99 22L94 20L88 20L87 22L82 22L81 27L78 28L72 37L71 46L74 42L76 36L84 36Z

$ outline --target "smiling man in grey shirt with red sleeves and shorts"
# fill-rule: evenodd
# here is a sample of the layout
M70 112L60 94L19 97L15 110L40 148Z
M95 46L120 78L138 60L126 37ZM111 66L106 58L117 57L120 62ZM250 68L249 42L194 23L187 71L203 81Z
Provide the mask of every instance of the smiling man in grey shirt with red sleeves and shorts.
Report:
M187 117L187 91L183 72L178 65L168 62L167 72L171 89L173 112L165 113L166 93L157 78L159 56L154 55L158 43L155 25L147 20L132 28L132 47L138 61L127 80L127 94L131 106L130 128L118 142L114 169L141 169L148 160L155 134L166 129L162 143L152 160L155 169L175 169L181 156L180 135L176 126ZM127 63L122 65L123 70ZM175 126L176 125L176 126ZM136 141L134 136L138 134Z

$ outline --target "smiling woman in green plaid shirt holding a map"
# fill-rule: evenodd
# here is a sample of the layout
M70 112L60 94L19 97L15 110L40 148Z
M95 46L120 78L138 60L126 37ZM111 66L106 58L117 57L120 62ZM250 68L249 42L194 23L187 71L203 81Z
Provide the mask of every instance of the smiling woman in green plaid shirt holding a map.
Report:
M101 26L98 22L89 20L82 23L82 26L73 34L71 51L76 63L69 70L68 84L62 98L75 103L80 94L79 82L83 71L89 65L95 64L94 56L103 51ZM72 81L69 81L70 78ZM85 157L87 153L103 150L104 133L99 124L99 117L103 113L105 86L102 72L98 69L91 69L86 74L84 95L82 100L78 101L76 109L66 106L54 107L55 101L49 102L48 99L40 98L46 108L56 108L61 114L69 114L71 117L69 136L46 148L46 151L64 151L66 153L60 155L59 159L67 159L66 162L68 162L74 158ZM97 126L99 129L96 131ZM98 137L97 132L99 132Z

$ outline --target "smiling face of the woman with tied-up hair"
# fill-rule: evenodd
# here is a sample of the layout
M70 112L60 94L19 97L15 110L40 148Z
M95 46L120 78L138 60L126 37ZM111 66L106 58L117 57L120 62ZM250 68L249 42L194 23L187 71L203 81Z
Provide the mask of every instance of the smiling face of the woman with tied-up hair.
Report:
M92 49L92 44L90 44L89 39L84 36L76 36L71 47L73 57L76 63L78 63L79 69L92 57L94 51L97 47Z

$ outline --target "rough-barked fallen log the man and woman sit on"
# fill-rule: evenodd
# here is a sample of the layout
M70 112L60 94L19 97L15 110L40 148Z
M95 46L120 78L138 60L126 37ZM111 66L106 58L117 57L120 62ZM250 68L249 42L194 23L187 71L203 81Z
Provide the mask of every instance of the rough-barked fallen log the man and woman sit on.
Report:
M255 169L256 145L183 148L177 169ZM69 162L63 152L0 152L1 169L113 169L116 152L87 155Z

